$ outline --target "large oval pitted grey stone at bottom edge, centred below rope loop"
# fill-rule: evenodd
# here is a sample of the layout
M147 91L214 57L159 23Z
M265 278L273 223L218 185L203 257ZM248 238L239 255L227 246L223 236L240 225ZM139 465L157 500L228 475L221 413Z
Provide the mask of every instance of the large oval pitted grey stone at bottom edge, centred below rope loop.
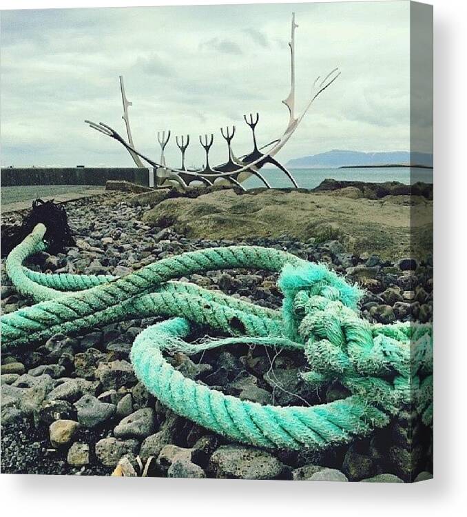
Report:
M222 445L209 460L209 471L217 478L273 479L283 468L271 453L242 445Z

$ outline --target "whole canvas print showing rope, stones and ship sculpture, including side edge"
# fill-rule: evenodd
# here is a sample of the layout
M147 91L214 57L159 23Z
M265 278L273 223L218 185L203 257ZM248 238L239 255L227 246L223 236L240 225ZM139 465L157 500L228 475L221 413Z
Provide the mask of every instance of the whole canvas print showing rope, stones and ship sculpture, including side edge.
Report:
M433 476L433 11L1 12L1 472Z

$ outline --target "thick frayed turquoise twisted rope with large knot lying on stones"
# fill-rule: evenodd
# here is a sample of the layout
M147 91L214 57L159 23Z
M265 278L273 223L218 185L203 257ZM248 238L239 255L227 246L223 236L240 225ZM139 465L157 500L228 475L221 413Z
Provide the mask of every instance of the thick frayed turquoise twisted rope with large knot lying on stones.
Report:
M52 335L76 334L125 319L170 317L136 336L131 361L149 392L177 414L242 443L262 447L324 449L387 425L413 404L428 425L433 415L433 341L430 325L371 325L357 315L360 291L324 265L255 246L209 248L163 259L134 273L43 274L23 266L45 250L37 225L6 262L17 290L36 305L1 317L2 347L23 347ZM197 285L172 281L224 268L280 272L282 312ZM175 316L175 317L174 317ZM230 338L187 343L200 325ZM319 387L339 381L351 396L333 403L259 405L196 383L163 352L253 343L302 350L302 378Z

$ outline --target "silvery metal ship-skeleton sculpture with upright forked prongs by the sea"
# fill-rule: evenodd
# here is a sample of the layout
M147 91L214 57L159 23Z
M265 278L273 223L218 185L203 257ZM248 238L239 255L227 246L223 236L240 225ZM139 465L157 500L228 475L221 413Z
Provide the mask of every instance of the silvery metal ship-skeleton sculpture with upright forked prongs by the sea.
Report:
M127 100L125 97L125 88L123 85L123 77L120 76L120 87L121 87L121 93L122 93L122 101L123 101L123 120L125 121L125 126L127 130L127 138L128 140L125 141L123 139L123 136L118 134L113 128L111 128L109 125L105 123L95 123L92 121L86 120L85 122L90 125L90 127L98 132L101 132L105 134L106 136L110 136L111 138L115 139L116 141L120 142L126 150L129 152L130 156L132 156L132 159L136 166L138 168L146 168L145 165L143 165L143 161L149 163L152 168L156 170L156 177L157 177L157 185L158 186L166 186L166 185L173 185L174 183L178 183L178 185L181 185L181 187L186 188L190 183L194 181L200 181L202 183L205 183L205 185L232 185L236 187L240 187L242 190L245 190L245 187L243 187L242 182L245 181L249 176L256 176L262 183L267 187L271 188L271 185L268 183L268 181L260 174L260 169L263 167L263 165L269 163L271 165L274 165L276 168L284 172L284 174L289 178L291 183L294 187L298 187L297 182L293 178L291 172L287 170L287 168L284 167L279 161L277 161L274 156L278 154L278 152L284 147L284 145L289 141L291 138L293 132L298 128L298 125L302 121L303 117L311 107L311 104L315 99L318 97L318 95L328 88L329 85L331 85L335 79L338 78L340 75L340 72L338 71L338 68L335 68L334 70L331 70L329 74L327 74L324 79L321 79L318 77L315 80L315 83L313 84L313 90L311 93L311 98L307 105L305 106L304 110L299 116L295 116L295 29L298 28L298 25L295 23L295 13L292 14L292 23L291 23L291 41L289 42L289 48L291 53L291 87L289 95L287 96L287 99L282 101L287 106L287 109L289 110L289 123L287 125L287 128L280 136L280 138L273 140L266 145L263 145L262 147L258 148L258 143L256 140L256 125L258 125L259 121L259 114L256 113L254 116L253 114L249 114L249 117L244 115L245 123L249 125L251 128L252 138L253 138L253 150L249 154L245 154L243 156L240 156L240 158L236 158L234 151L232 150L231 142L232 139L234 139L235 135L235 126L233 126L232 130L230 131L227 127L224 131L224 128L220 129L220 133L222 135L222 138L225 139L227 142L227 148L228 148L228 160L226 163L222 163L221 165L216 165L215 167L211 167L209 165L209 150L211 150L211 146L214 143L214 134L211 133L211 135L208 138L208 135L205 134L204 140L200 136L200 144L203 146L205 150L205 156L206 156L206 163L203 168L199 169L187 169L185 166L185 152L187 150L188 144L189 144L189 135L186 137L186 141L184 140L184 137L182 136L180 141L178 141L178 136L176 136L176 145L178 149L181 152L182 155L182 165L181 167L174 168L170 167L165 163L165 148L167 146L167 143L170 139L170 131L167 132L167 138L165 131L158 132L157 138L158 142L160 144L161 153L160 153L160 160L159 162L156 162L152 159L150 159L148 156L145 156L140 151L136 150L134 147L134 142L132 139L132 133L129 127L129 118L128 118L128 108L132 105L131 102ZM269 150L267 150L269 149ZM267 150L267 151L264 151ZM264 151L264 152L263 152Z

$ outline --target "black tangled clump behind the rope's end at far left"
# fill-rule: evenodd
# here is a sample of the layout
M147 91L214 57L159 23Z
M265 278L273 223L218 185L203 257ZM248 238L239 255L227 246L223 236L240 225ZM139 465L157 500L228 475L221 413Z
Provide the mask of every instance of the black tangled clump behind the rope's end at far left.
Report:
M1 230L1 256L7 256L25 236L30 234L37 223L47 227L44 240L48 244L48 252L56 255L63 252L65 246L75 245L73 232L68 225L68 216L63 205L52 201L36 199L32 209L23 217L21 225L8 225Z

